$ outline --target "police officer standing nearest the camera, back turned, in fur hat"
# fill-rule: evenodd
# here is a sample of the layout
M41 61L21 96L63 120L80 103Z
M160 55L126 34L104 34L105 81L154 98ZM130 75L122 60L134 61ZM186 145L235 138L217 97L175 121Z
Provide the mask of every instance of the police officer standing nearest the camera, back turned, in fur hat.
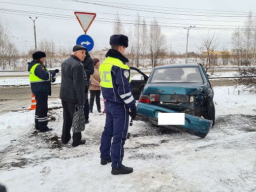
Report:
M135 119L137 110L131 90L130 68L126 65L129 60L124 56L128 38L124 35L113 35L109 44L111 49L100 66L102 95L106 99L106 123L100 146L101 164L112 162L113 175L129 174L133 172L133 168L122 165L123 145L129 125L129 114Z

